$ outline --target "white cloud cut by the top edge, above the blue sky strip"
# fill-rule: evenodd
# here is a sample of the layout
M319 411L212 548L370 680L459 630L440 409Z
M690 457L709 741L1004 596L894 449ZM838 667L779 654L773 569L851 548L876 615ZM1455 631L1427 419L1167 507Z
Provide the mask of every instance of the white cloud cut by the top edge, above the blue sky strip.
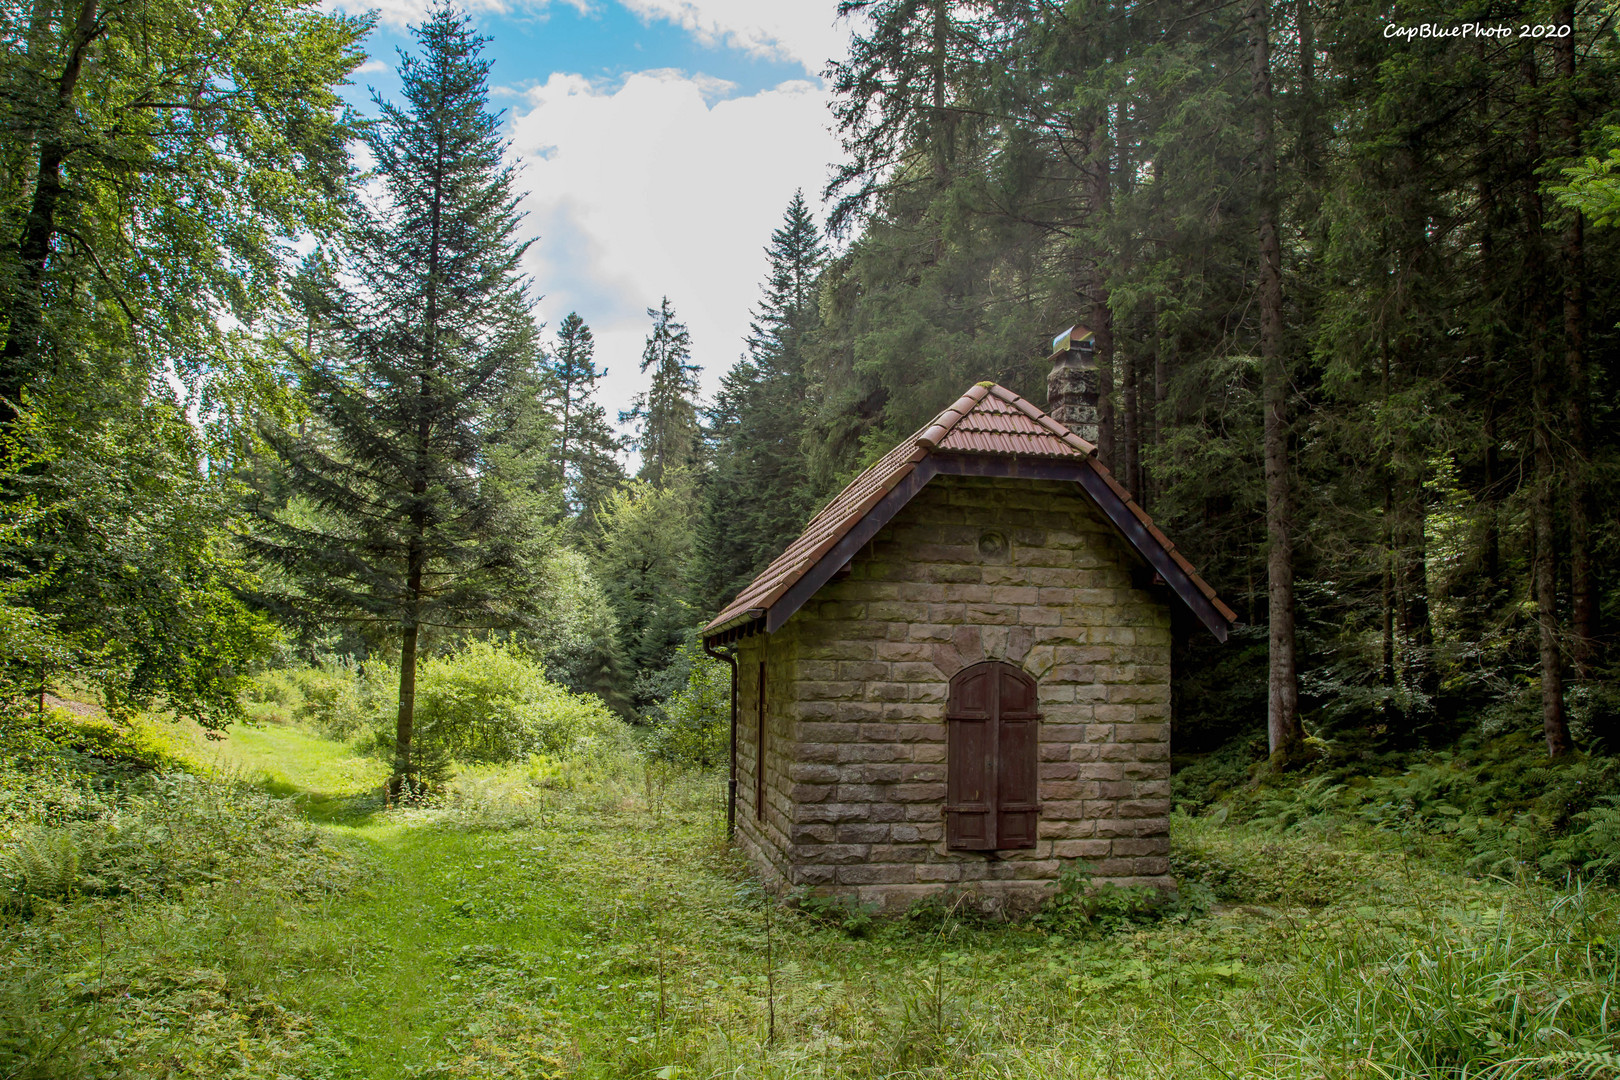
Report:
M643 19L666 19L705 45L797 60L820 74L849 45L833 0L619 0Z

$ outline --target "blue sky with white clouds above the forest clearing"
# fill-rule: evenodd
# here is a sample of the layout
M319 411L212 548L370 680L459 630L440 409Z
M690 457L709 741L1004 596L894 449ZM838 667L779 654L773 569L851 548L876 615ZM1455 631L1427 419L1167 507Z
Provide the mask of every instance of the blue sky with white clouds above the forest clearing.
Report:
M399 52L426 0L377 10L350 99L399 99ZM842 57L836 0L462 0L505 110L525 193L526 272L552 340L578 311L608 368L611 418L642 390L648 308L669 296L706 397L742 353L765 246L794 191L813 207L829 164L821 71ZM820 214L818 214L820 217Z

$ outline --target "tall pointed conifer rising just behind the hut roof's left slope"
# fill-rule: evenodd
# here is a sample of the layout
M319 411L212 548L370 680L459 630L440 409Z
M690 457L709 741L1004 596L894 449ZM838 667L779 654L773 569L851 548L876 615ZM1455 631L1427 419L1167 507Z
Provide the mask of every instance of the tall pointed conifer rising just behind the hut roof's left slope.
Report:
M804 453L805 337L818 322L826 246L795 191L765 249L770 274L748 358L721 381L710 413L714 463L703 489L697 588L705 609L737 593L794 538L812 508Z

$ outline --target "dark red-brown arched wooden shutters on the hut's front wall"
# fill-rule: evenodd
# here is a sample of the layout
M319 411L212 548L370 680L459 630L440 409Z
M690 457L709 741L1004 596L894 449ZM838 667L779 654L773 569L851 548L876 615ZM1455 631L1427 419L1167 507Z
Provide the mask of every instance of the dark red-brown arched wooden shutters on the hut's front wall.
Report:
M944 709L944 842L966 852L1035 847L1040 712L1035 680L987 661L951 680Z

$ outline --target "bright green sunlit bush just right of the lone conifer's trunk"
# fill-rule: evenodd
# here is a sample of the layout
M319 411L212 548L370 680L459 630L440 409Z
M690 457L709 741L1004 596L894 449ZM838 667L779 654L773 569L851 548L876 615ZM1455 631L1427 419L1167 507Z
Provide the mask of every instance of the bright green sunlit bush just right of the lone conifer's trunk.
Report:
M416 737L424 750L481 763L629 746L629 729L601 698L549 682L539 664L494 641L418 664Z

